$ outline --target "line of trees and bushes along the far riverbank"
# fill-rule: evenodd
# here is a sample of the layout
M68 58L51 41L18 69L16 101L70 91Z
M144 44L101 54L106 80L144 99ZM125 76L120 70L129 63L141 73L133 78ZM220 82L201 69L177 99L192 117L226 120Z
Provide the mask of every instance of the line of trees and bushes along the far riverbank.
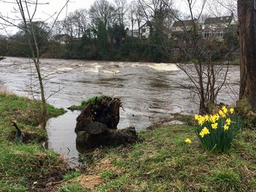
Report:
M52 30L51 23L44 21L33 21L33 27L39 54L45 58L191 61L192 57L180 49L187 39L180 37L177 40L166 34L166 31L170 32L173 21L180 16L181 12L173 8L171 0L136 0L129 4L126 0L116 0L113 4L107 0L97 0L89 10L78 9L70 12L64 20L57 20ZM141 39L140 30L136 31L135 28L147 22L150 23L151 33L148 39ZM24 34L25 26L21 22L16 34L0 37L0 55L31 57ZM236 34L225 35L224 42L214 42L214 60L227 55L225 48L230 46L230 42L238 45Z

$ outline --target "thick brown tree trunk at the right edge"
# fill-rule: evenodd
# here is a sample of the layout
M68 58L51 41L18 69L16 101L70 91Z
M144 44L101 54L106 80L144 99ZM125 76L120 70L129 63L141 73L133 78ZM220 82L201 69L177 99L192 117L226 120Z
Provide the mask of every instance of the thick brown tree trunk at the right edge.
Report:
M240 99L248 97L256 109L256 1L238 0L240 42Z

